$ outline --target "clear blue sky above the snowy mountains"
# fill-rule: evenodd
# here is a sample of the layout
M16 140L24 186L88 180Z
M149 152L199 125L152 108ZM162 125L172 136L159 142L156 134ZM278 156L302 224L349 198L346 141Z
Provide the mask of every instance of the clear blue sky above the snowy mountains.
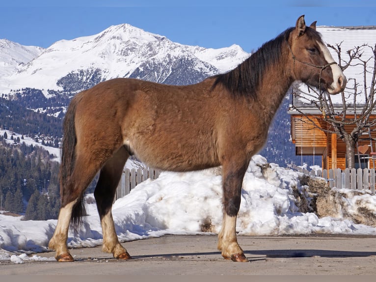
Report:
M356 3L355 3L356 2ZM376 25L375 0L3 0L0 38L49 47L60 39L131 24L172 41L207 48L240 45L251 52L295 25Z

